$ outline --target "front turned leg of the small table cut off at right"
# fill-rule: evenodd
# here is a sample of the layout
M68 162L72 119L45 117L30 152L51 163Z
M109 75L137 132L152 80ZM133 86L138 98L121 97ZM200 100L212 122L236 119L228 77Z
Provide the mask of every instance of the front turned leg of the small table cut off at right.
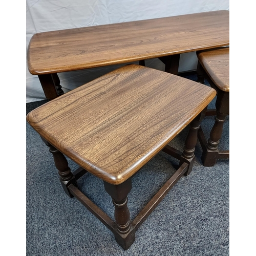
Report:
M206 147L203 148L202 162L204 166L214 166L219 158L218 145L223 132L223 124L229 114L229 93L218 92L216 100L217 116L215 123L210 131L210 138Z

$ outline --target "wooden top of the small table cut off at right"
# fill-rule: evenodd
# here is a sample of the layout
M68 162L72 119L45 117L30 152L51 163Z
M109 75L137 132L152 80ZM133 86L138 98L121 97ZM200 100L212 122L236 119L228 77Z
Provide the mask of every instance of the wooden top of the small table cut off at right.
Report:
M229 92L229 47L197 52L198 60L212 82Z

